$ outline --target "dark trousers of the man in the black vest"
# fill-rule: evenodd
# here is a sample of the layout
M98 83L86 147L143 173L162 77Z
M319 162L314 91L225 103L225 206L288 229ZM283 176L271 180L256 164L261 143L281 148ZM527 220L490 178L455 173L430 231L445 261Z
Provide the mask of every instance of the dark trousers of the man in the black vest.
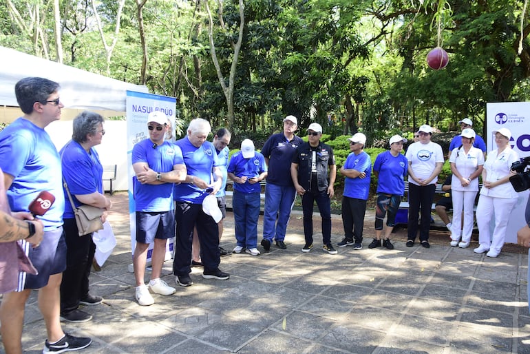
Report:
M306 237L306 244L312 244L313 242L313 205L315 200L320 211L320 217L322 218L322 242L324 244L331 243L331 203L328 191L321 191L312 193L306 191L301 196L301 206L304 211L304 236Z

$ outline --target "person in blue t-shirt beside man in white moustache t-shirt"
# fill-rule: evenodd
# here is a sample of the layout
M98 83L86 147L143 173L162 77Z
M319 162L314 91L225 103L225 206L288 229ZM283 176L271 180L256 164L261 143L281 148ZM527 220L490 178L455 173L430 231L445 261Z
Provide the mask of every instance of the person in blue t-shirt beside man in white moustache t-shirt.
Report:
M390 150L381 152L374 162L374 175L377 177L377 205L375 208L375 238L368 245L370 249L381 247L383 220L386 214L388 217L383 247L394 249L394 245L390 242L390 233L396 222L399 203L405 193L408 161L401 151L407 139L394 135L389 143Z

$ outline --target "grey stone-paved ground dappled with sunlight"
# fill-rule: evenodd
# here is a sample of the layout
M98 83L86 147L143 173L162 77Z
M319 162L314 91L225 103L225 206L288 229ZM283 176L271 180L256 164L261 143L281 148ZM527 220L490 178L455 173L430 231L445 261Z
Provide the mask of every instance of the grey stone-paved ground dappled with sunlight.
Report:
M175 285L168 261L163 278L176 294L138 306L128 271L127 194L112 198L118 245L91 275L92 292L105 302L83 309L91 322L63 322L65 331L94 339L81 353L530 353L526 254L490 259L473 253L474 244L449 247L448 238L430 249L407 248L399 235L392 251L368 249L368 232L360 251L346 247L332 256L315 242L301 253L299 215L286 251L223 257L226 281L204 280L193 268L188 288ZM333 224L336 244L340 218ZM225 225L222 246L231 249L231 213ZM23 348L37 353L45 329L36 293L26 309Z

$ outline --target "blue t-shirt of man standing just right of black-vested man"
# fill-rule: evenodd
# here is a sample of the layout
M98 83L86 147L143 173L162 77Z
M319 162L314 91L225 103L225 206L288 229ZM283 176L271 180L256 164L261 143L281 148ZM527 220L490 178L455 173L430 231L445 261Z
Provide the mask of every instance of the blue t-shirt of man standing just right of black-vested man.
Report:
M346 158L343 166L345 169L357 169L357 171L364 172L365 178L344 178L343 196L356 199L368 199L368 192L370 192L370 175L372 171L372 160L370 155L365 152L356 155L354 152L350 153Z

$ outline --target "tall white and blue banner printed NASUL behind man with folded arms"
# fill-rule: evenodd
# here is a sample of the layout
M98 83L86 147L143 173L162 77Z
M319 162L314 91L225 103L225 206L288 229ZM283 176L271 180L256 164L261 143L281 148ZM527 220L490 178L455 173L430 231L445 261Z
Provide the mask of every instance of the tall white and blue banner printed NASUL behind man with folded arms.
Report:
M129 180L129 220L131 227L131 251L134 253L136 247L136 203L134 200L134 170L132 168L132 149L134 144L149 138L147 134L147 116L153 111L161 111L171 120L171 125L176 123L176 98L160 96L158 94L147 94L144 92L127 91L127 167ZM169 239L166 245L166 257L173 257L175 238ZM147 263L151 263L153 244L149 244L147 251ZM132 265L132 264L131 264ZM129 271L132 267L129 266Z

